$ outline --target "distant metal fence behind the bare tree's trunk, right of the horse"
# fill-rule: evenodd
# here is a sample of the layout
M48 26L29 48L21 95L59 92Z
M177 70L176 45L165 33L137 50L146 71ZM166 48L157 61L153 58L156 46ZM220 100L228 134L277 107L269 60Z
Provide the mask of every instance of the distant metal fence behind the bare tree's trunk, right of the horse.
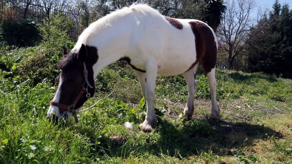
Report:
M225 57L225 56L217 57L216 68L228 69L228 70L230 69L230 70L236 70L236 71L246 71L246 67L247 67L247 61L244 57L236 56L234 58L231 68L229 68L228 57Z

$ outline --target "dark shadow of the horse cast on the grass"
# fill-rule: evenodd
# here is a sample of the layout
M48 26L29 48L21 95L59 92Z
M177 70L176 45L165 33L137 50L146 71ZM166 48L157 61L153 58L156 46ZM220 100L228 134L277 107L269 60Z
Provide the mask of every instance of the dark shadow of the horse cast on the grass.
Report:
M138 137L127 142L117 142L103 137L100 144L102 150L100 147L96 150L101 156L107 154L123 158L147 153L158 157L165 154L186 158L200 155L201 152L210 152L209 150L216 155L234 155L234 150L239 152L256 139L265 139L272 135L279 138L282 136L264 125L245 122L209 122L204 119L188 121L183 128L178 126L178 123L160 120L154 133L158 133L159 137L145 135L148 137Z

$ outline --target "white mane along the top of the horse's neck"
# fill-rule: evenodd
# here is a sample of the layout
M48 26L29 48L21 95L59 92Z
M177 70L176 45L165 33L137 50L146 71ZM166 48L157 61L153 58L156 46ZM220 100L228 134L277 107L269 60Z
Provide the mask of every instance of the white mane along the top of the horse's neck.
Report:
M86 42L91 38L96 38L102 30L112 27L112 24L121 20L121 18L127 16L130 13L140 13L143 15L150 14L152 17L161 16L161 14L155 9L151 8L147 4L133 4L130 7L124 7L120 10L114 11L99 20L91 23L79 36L78 41L71 52L77 53L81 45L86 45Z

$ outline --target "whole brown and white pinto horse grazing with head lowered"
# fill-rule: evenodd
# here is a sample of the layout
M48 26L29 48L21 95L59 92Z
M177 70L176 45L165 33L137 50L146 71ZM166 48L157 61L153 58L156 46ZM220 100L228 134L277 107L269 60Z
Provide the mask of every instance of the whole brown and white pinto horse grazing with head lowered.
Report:
M211 92L210 119L219 119L215 79L217 49L213 29L202 21L169 18L145 4L124 7L89 25L70 52L63 47L63 59L57 65L61 73L47 117L69 121L73 115L78 121L76 113L93 96L98 73L109 64L126 60L138 76L147 104L140 130L151 132L157 123L154 111L157 74L183 74L188 88L184 119L192 118L197 89L194 74L199 63Z

